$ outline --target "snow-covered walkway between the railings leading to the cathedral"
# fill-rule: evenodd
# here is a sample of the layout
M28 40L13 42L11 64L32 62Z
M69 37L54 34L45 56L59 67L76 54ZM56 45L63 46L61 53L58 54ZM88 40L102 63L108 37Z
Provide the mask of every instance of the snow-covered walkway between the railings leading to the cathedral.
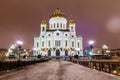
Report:
M0 80L120 80L120 77L67 61L52 60L0 75Z

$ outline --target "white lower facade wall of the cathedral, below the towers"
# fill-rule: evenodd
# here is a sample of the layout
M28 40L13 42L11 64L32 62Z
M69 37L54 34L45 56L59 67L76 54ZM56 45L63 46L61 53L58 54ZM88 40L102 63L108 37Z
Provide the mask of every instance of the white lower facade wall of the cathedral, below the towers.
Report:
M57 33L59 33L59 35L56 35ZM67 36L65 36L65 34L67 34ZM60 46L56 46L55 41L60 41ZM57 49L60 50L60 56L65 55L65 50L68 50L68 55L75 55L78 53L79 55L83 55L82 37L76 37L76 36L71 37L70 32L61 32L61 31L46 32L44 37L40 35L40 37L35 38L34 46L36 47L35 55L41 54L43 56L44 55L47 56L48 50L51 50L51 56L56 56Z

